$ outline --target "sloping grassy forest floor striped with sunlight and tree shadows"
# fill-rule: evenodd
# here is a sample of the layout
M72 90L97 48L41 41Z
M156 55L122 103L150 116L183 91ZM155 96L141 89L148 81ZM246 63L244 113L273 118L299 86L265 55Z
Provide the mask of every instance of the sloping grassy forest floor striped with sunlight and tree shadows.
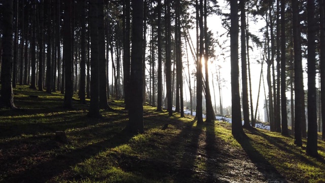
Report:
M115 111L96 119L76 95L74 109L64 109L59 93L19 86L14 94L19 109L0 109L0 182L325 182L323 141L310 158L306 139L297 147L292 136L253 129L236 140L230 124L197 124L148 105L145 133L131 136L122 101L110 100Z

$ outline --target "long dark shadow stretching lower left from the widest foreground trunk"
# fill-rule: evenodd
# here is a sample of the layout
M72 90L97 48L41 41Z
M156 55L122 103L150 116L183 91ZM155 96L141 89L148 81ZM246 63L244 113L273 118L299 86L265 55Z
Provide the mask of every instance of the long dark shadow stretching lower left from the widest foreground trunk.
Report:
M117 133L112 138L99 143L94 143L83 148L78 148L56 156L46 162L34 167L13 173L6 177L9 182L46 182L52 177L59 175L64 170L76 165L96 154L105 148L114 148L129 141L132 135L125 134L124 131Z

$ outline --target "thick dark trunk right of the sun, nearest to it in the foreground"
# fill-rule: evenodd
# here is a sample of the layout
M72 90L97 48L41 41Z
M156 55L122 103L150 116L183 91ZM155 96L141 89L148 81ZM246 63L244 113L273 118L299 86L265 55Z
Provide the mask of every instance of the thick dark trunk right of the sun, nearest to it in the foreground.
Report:
M239 92L239 66L238 66L238 3L230 1L230 49L231 49L231 86L232 86L232 134L237 138L243 138L240 92Z

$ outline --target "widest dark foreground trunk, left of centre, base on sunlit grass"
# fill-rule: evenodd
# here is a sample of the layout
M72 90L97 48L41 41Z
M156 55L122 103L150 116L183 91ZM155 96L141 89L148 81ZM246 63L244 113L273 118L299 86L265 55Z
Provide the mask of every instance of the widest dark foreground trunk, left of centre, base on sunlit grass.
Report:
M132 54L130 88L133 97L129 99L129 120L126 131L129 133L143 133L143 80L142 80L142 44L143 44L143 0L132 0Z

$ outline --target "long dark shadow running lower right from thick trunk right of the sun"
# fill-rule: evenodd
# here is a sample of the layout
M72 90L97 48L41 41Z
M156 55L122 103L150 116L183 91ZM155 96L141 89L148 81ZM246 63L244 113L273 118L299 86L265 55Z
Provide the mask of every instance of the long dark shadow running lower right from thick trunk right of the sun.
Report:
M257 167L257 170L263 174L268 182L287 182L278 170L252 146L248 138L236 138L236 140L240 143L252 163Z

